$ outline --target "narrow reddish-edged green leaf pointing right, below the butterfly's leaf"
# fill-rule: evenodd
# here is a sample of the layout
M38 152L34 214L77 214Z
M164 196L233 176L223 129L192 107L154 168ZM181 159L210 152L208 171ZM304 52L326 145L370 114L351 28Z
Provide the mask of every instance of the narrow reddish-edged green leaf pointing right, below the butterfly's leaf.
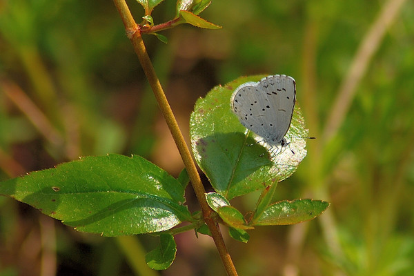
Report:
M250 225L288 225L315 219L324 213L329 203L322 200L295 199L293 201L279 201L264 210Z

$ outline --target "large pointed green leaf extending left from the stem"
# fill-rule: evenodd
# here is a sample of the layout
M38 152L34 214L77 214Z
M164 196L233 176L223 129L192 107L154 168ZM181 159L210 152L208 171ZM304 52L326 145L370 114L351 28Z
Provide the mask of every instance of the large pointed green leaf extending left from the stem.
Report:
M184 187L139 156L83 157L0 182L0 194L108 237L160 232L192 220Z

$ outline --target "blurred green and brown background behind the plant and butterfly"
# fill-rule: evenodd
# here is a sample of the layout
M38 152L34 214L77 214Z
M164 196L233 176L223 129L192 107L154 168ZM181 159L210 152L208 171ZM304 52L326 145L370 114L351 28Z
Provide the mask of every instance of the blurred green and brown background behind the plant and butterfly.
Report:
M152 16L174 14L166 0ZM249 231L248 244L224 228L239 275L414 275L413 1L213 1L201 17L223 28L144 37L184 135L213 86L290 75L317 139L275 200L331 202L313 221ZM0 179L108 152L183 168L112 1L0 0ZM257 197L232 202L248 212ZM174 264L152 274L139 252L157 239L133 239L142 248L0 198L0 275L224 275L208 237L177 235Z

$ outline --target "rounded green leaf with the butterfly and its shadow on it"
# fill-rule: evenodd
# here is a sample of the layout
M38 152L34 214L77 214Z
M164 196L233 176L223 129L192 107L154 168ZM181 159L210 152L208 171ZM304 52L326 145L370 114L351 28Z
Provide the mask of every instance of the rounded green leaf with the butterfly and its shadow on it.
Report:
M308 130L298 105L285 138L289 146L270 155L253 132L247 132L230 110L230 97L237 86L259 81L264 75L241 77L216 86L199 99L190 117L191 146L197 164L217 193L232 199L286 179L306 156ZM295 154L291 151L293 150Z

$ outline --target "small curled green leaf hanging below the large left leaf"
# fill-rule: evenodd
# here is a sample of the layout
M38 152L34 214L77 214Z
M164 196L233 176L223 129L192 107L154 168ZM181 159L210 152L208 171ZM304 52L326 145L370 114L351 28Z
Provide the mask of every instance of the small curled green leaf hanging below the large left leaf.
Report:
M170 234L163 233L159 235L159 239L159 246L147 253L145 261L152 269L164 270L174 262L177 245L175 244L174 237Z

